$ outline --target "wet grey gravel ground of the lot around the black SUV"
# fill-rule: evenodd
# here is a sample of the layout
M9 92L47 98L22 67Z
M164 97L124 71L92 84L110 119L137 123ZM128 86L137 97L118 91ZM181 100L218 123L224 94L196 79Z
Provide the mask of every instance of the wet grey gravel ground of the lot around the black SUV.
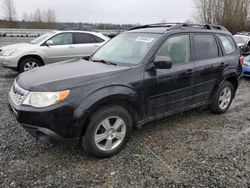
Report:
M197 109L150 123L120 154L97 160L36 142L11 117L15 76L0 67L0 187L250 187L250 79L228 113Z

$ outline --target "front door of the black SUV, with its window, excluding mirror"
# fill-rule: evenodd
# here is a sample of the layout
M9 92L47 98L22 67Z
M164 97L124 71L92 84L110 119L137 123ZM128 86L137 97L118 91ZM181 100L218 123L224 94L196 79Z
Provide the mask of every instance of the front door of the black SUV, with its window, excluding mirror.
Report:
M190 62L190 36L183 34L168 38L156 56L171 58L173 66L145 72L146 115L174 113L191 106L195 80L194 64Z

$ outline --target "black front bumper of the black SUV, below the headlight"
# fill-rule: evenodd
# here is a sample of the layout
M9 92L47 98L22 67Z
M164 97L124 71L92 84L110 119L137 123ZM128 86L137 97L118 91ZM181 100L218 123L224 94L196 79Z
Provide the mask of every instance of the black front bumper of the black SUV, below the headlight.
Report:
M67 145L76 145L80 141L83 124L81 118L75 115L75 107L67 101L36 109L15 105L9 95L8 107L15 119L36 140Z

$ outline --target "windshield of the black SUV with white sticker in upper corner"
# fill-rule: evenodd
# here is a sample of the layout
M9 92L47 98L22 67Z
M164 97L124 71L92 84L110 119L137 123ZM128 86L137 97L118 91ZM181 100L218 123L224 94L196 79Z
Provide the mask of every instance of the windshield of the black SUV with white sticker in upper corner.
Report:
M91 58L92 61L108 61L116 64L142 63L159 34L124 33L110 40Z

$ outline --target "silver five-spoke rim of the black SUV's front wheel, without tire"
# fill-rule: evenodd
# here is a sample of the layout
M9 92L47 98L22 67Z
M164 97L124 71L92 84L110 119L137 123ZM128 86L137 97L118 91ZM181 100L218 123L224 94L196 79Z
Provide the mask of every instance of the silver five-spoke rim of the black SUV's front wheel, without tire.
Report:
M96 129L95 144L102 151L110 151L122 143L125 135L125 122L120 117L108 117Z

